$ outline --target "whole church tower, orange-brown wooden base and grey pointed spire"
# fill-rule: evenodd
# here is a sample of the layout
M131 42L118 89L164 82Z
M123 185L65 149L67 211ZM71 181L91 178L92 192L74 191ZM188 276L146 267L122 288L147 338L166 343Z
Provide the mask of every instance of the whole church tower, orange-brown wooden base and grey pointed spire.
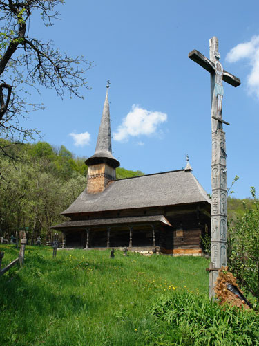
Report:
M95 154L86 160L86 165L88 165L88 193L102 192L106 188L108 181L116 179L115 169L119 167L119 161L113 157L111 150L111 120L108 102L109 84L110 82L107 82L106 98Z

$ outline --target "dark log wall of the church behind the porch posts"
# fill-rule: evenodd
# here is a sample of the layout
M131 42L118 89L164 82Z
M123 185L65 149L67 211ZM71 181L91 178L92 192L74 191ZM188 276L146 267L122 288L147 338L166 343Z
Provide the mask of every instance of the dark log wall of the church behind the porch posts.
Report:
M210 210L208 205L189 205L161 208L140 208L137 210L113 210L95 212L89 215L77 215L73 219L98 219L111 217L134 217L142 215L164 215L173 227L157 224L155 227L155 244L165 249L197 249L201 248L200 236L210 234ZM110 247L129 246L131 225L111 226ZM90 228L89 247L107 246L107 226ZM75 235L72 235L75 233ZM70 235L69 235L70 234ZM133 225L132 245L152 246L152 227L150 224ZM86 246L86 230L71 230L67 235L68 247Z

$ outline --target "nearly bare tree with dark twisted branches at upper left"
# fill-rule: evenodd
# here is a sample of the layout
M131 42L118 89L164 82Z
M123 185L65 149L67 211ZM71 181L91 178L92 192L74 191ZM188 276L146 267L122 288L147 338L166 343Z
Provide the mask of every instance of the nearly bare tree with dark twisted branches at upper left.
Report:
M33 130L19 125L20 116L42 104L33 104L30 88L45 86L61 98L64 90L81 97L86 87L85 72L90 63L84 57L62 54L51 40L45 42L30 35L30 18L39 16L45 26L58 19L55 8L64 0L1 0L0 1L0 135L32 137ZM81 68L84 64L85 68ZM38 89L37 89L38 90ZM5 148L3 148L3 151Z

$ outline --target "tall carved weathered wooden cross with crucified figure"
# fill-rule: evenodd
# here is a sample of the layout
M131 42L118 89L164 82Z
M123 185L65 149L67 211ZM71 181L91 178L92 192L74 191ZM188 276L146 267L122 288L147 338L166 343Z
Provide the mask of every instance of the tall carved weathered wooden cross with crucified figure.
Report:
M215 296L214 286L221 266L227 265L227 170L226 140L222 129L229 122L222 119L223 83L240 85L240 79L224 71L218 53L218 38L209 40L209 59L191 51L188 57L211 73L211 263L209 266L209 297ZM224 153L224 154L222 154Z

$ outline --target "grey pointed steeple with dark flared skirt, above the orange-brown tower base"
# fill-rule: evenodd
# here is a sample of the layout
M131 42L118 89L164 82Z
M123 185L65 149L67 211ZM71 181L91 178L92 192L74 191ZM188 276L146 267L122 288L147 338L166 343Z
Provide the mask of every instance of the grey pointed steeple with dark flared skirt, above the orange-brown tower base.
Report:
M112 155L111 150L111 122L110 107L108 101L108 88L110 82L107 82L106 98L104 101L104 109L102 111L102 120L99 127L95 154L86 160L86 165L97 165L98 163L107 163L113 168L119 167L119 161Z

